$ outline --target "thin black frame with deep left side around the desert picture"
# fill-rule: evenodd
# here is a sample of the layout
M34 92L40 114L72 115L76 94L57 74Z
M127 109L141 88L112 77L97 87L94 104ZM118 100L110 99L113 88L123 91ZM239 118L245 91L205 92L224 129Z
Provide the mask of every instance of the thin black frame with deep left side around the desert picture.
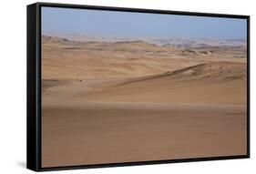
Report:
M223 156L195 159L169 159L150 160L138 162L60 166L42 168L41 166L41 7L63 7L77 9L94 9L108 11L139 12L150 14L168 15L196 15L216 16L227 18L241 18L247 20L247 154L239 156ZM67 5L52 3L36 3L27 5L27 127L26 127L26 168L35 171L48 171L60 169L91 169L105 167L121 167L134 165L150 165L174 162L207 161L220 159L248 159L250 158L250 16L249 15L226 15L196 12L179 12L168 10L123 8L94 5Z

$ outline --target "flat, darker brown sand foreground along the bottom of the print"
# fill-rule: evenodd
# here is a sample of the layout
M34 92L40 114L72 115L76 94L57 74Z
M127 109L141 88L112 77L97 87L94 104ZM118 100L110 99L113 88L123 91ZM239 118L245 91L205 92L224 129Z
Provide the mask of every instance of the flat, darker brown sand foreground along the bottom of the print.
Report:
M246 154L245 107L124 104L43 114L45 167Z

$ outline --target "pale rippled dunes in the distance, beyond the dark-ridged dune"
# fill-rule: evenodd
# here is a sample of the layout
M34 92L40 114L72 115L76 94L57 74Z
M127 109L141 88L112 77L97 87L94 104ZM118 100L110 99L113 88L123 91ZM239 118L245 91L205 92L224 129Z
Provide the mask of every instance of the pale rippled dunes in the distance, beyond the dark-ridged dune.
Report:
M141 40L111 43L44 38L44 79L143 77L215 61L246 63L246 50L234 46L200 47L189 53Z

